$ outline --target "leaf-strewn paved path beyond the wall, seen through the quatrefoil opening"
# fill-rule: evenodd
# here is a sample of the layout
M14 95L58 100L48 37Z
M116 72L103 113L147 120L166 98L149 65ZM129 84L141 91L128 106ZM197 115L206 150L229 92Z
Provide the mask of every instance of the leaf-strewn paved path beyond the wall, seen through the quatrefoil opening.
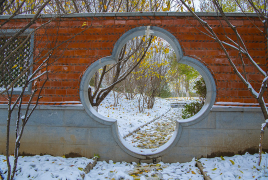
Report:
M167 142L175 129L176 120L181 119L182 108L171 108L165 115L142 127L125 138L139 148L155 148Z

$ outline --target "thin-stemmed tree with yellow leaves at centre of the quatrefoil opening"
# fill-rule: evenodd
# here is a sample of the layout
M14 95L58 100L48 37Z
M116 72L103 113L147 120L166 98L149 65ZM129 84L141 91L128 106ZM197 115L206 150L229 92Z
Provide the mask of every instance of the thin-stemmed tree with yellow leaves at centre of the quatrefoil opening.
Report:
M172 47L162 38L155 37L148 55L144 62L136 70L138 80L143 81L145 88L144 96L147 108L153 107L156 96L166 86L172 76L170 70L170 56L173 54Z

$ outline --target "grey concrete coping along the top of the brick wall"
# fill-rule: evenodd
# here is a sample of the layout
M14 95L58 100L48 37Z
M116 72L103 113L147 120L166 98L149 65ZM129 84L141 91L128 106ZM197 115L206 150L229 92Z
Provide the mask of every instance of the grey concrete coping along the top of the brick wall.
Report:
M198 16L218 16L216 12L195 12ZM32 18L35 14L19 14L13 18ZM257 17L257 13L226 12L226 16ZM0 15L0 19L8 19L11 15ZM190 12L87 12L67 14L41 14L40 18L61 17L105 17L105 16L192 16Z

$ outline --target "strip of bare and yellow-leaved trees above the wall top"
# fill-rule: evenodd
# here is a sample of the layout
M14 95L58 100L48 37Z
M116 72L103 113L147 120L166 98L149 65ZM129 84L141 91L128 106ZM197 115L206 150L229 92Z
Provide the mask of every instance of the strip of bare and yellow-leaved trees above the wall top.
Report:
M216 12L213 0L183 0L192 11ZM267 8L266 0L217 0L223 12L255 12ZM0 14L189 11L180 0L0 0Z

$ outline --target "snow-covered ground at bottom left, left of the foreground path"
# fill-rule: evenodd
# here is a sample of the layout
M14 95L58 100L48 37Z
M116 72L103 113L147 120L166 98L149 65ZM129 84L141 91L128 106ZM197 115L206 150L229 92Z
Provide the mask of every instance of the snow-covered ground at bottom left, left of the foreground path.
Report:
M9 156L11 167L14 157ZM82 179L83 169L93 159L85 157L64 158L51 155L19 156L17 161L15 180L24 179ZM7 176L6 157L0 155L0 171Z

